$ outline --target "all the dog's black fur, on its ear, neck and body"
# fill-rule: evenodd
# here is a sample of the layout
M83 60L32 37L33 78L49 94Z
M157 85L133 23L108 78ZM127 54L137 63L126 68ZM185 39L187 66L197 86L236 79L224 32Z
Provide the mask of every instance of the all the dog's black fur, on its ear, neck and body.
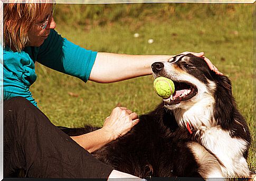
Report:
M236 108L229 78L216 75L202 58L192 55L189 57L194 63L203 64L200 67L204 69L199 68L201 71L199 73L204 74L205 78L217 85L213 112L217 125L229 131L232 137L241 138L250 143L249 128ZM178 126L173 110L165 108L164 103L153 112L139 116L139 119L139 123L130 132L93 152L92 155L117 170L140 178L202 177L198 172L202 165L198 164L192 150L187 146L193 142L200 143L198 135L195 135L196 129L189 134L186 127ZM97 128L86 126L61 129L70 136L76 136ZM243 152L245 158L247 155L248 149Z

